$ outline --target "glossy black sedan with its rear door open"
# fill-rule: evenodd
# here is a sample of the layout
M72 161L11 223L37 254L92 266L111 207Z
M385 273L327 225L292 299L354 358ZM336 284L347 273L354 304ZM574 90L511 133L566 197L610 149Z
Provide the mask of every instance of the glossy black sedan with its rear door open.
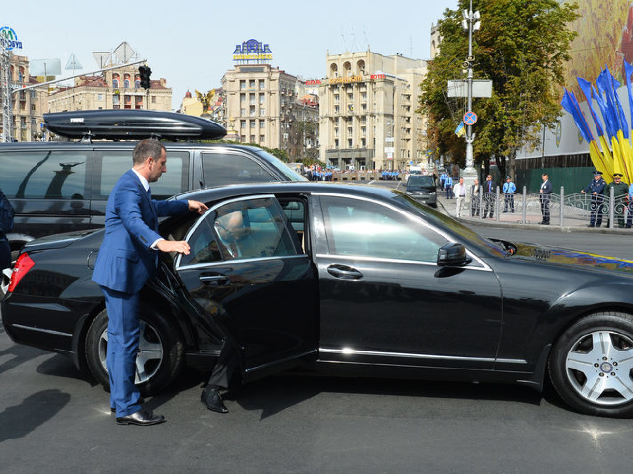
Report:
M633 262L491 241L395 190L225 186L182 198L204 216L161 222L142 291L137 383L160 391L210 368L221 334L242 380L289 367L341 375L519 382L550 377L575 410L633 415ZM28 243L2 303L13 341L66 354L105 386L103 231Z

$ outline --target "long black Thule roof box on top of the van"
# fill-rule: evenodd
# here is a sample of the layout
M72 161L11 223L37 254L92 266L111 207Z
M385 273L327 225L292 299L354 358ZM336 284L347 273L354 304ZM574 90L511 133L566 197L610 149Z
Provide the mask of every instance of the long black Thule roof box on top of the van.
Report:
M209 119L176 112L94 110L44 114L46 128L68 138L215 140L227 134Z

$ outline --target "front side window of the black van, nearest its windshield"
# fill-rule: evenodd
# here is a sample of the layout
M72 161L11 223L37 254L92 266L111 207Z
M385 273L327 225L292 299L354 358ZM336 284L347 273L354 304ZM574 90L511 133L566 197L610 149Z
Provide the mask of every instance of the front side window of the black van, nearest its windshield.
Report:
M235 153L203 152L202 173L205 186L277 181L260 164Z

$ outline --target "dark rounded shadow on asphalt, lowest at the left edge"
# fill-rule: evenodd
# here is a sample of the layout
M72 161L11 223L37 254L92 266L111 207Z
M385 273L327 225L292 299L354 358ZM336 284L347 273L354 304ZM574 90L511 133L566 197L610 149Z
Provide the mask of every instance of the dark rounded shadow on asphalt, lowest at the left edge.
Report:
M0 413L0 443L22 438L53 418L70 401L70 395L57 389L44 390L25 398Z

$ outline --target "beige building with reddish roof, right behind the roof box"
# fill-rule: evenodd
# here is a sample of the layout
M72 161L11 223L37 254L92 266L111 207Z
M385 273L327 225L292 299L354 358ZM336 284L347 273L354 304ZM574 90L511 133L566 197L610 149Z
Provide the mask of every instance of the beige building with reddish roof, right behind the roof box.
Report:
M79 76L71 87L59 87L48 97L49 112L81 110L172 110L172 88L161 78L141 87L137 66L105 71L99 76Z

